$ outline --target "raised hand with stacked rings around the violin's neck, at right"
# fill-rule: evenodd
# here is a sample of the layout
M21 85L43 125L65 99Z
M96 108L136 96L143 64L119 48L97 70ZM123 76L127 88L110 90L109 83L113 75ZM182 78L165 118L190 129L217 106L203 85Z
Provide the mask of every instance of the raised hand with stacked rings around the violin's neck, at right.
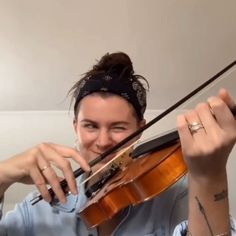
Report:
M221 89L218 96L178 116L182 152L191 176L215 178L225 174L236 142L236 119L230 111L234 106L228 92Z

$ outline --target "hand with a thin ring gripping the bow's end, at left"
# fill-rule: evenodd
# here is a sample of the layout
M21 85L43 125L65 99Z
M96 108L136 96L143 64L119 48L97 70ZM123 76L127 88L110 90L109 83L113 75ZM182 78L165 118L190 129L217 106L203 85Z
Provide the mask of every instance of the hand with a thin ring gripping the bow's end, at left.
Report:
M66 197L61 188L59 177L52 165L60 169L72 194L77 194L76 180L69 159L76 161L82 169L90 167L74 149L53 143L39 144L23 153L0 162L0 196L13 183L35 184L43 199L50 202L47 185L52 187L60 202Z

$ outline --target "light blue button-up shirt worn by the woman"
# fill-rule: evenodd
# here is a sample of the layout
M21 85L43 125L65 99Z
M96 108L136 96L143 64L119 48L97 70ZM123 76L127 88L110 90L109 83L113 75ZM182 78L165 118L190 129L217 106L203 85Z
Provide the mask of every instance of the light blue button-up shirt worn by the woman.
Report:
M155 181L155 180L153 180ZM158 197L123 210L123 219L113 236L181 236L186 234L187 177L162 192ZM87 201L84 189L68 197L65 205L51 207L41 201L31 205L35 193L17 204L0 221L0 236L97 236L96 228L88 230L79 216ZM182 222L182 223L181 223ZM176 227L177 226L177 227Z

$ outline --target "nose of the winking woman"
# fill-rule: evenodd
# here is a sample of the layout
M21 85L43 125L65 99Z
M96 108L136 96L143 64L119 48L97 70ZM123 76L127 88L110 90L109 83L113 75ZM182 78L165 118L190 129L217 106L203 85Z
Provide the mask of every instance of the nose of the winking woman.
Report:
M111 148L112 145L113 145L113 140L109 131L105 129L101 129L99 131L99 134L96 140L96 147L101 151L105 151Z

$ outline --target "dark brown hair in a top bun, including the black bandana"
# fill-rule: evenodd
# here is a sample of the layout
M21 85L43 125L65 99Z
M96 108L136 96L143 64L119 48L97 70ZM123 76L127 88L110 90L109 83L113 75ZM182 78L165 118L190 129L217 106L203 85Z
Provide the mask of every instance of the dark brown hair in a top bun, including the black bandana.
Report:
M116 88L113 89L110 85L109 87L107 85L108 77L112 81L116 81L115 85L118 85L119 88L110 82L110 85ZM104 82L101 84L103 80L106 81L106 84ZM95 86L94 81L96 82ZM141 81L146 84L146 87ZM97 85L98 82L99 85ZM120 86L120 84L123 85ZM132 89L127 90L127 87ZM129 56L123 52L116 52L105 54L91 70L83 74L82 78L73 85L69 90L69 94L72 95L72 101L74 100L75 118L78 114L79 102L84 96L93 92L102 92L118 94L124 97L133 105L138 118L142 119L146 109L146 91L148 89L148 81L143 76L134 74L132 61Z

